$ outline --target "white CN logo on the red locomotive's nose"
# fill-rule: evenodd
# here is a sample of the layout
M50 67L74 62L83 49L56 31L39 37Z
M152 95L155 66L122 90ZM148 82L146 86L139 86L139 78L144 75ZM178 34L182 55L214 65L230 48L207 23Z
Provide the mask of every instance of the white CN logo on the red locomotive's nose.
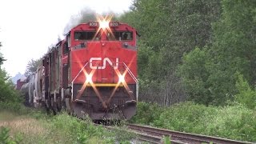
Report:
M110 66L113 66L113 63L110 61L110 58L104 58L103 59L103 66L93 66L93 61L102 61L102 58L90 58L90 68L91 69L106 69L106 62L108 62L110 64ZM115 59L115 66L114 70L118 69L118 61L119 59L116 58Z

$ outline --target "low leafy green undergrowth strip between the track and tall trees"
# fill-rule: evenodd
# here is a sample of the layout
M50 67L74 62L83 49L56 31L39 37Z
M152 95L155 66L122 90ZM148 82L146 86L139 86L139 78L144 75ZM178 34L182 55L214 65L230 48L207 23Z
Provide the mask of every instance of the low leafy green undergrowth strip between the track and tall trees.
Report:
M153 112L145 110L145 106ZM140 102L132 122L195 134L256 141L256 113L238 103L217 107L183 102L155 109L150 103Z

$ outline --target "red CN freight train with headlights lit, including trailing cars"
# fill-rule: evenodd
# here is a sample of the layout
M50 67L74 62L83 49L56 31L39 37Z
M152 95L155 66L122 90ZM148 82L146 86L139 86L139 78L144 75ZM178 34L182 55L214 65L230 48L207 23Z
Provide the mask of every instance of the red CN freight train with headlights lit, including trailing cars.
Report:
M137 36L108 18L75 26L18 81L26 105L92 120L130 119L138 102Z

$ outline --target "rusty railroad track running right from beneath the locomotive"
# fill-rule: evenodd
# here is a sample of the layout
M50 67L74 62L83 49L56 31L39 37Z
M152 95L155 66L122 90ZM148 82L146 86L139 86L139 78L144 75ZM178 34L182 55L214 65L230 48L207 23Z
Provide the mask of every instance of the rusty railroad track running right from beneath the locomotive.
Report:
M171 143L216 143L216 144L252 144L252 142L235 141L226 138L217 138L201 134L190 134L178 132L174 130L164 130L151 126L139 126L134 124L126 124L130 130L136 131L142 141L150 143L160 143L163 136L168 136Z

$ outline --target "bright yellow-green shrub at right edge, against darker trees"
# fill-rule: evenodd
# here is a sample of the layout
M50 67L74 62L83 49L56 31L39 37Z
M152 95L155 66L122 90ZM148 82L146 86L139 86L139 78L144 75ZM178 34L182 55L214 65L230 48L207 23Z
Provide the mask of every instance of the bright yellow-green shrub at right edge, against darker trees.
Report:
M238 89L238 94L235 95L236 100L250 109L256 108L256 90L250 88L242 74L238 74L238 81L235 86Z

